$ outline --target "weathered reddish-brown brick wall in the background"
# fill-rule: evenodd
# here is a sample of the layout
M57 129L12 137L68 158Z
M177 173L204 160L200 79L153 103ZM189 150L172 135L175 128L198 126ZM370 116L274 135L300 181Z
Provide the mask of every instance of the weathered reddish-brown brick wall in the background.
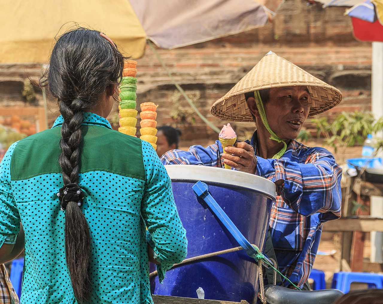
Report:
M342 91L342 103L322 115L332 118L341 111L367 111L371 108L371 44L353 38L350 18L343 15L344 10L345 7L323 9L319 4L289 0L281 5L273 23L262 28L179 49L157 49L157 52L186 93L200 96L198 108L218 127L227 121L211 116L210 106L270 50ZM182 147L213 142L217 134L198 116L190 114L195 118L193 124L177 123L170 118L169 114L174 114L176 88L148 46L137 61L137 104L157 103L158 125L179 127L183 132ZM37 64L0 65L0 106L25 105L21 96L23 75L36 79L40 73L41 65ZM43 104L39 92L35 104ZM182 97L179 105L182 111L189 112ZM56 101L49 100L48 108L51 125L58 115ZM249 137L254 130L252 123L233 125L241 139ZM310 128L310 123L306 126Z

